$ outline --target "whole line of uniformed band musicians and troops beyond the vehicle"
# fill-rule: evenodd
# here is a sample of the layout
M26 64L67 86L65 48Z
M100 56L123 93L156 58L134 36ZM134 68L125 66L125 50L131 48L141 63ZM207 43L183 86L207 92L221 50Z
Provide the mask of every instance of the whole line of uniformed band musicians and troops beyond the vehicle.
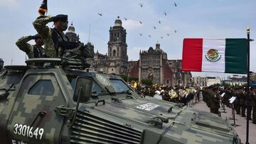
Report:
M250 88L250 96L247 101L245 87L210 86L200 89L199 87L167 87L165 85L157 87L156 84L149 87L135 81L131 82L130 86L140 95L182 103L187 106L192 106L200 101L200 92L202 92L203 101L206 102L211 113L220 115L220 106L222 108L225 106L232 108L233 106L235 113L242 117L245 117L246 111L248 111L250 121L256 124L256 87ZM223 93L225 93L225 95ZM223 96L221 96L221 94L223 94ZM232 105L229 99L233 96L235 96L236 99ZM249 109L247 109L247 106Z

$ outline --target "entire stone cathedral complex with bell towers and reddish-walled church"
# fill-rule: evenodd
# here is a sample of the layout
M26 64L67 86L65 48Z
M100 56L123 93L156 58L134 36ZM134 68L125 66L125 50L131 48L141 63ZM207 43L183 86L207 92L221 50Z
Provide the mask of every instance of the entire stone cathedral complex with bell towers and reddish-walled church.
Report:
M156 48L150 47L138 53L139 60L128 61L126 30L122 21L117 17L114 26L110 27L110 40L107 43L107 53L95 52L95 57L88 59L90 70L109 74L125 74L128 77L151 79L154 84L183 85L190 82L191 72L181 71L181 60L168 60L166 52L156 43ZM73 24L66 33L72 41L78 41ZM87 46L94 47L88 42Z

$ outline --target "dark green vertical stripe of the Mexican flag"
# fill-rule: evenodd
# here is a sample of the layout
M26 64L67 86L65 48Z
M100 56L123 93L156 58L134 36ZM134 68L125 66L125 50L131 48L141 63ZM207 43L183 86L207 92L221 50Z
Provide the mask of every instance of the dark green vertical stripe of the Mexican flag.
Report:
M247 73L247 39L227 38L225 40L225 72Z

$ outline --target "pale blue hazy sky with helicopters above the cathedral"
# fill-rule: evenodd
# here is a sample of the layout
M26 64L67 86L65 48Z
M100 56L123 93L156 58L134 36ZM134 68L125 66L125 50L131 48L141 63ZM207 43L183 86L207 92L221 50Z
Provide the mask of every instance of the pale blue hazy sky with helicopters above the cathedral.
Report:
M42 1L0 0L0 58L5 65L11 62L12 65L25 65L25 53L15 43L21 36L36 34L32 22L38 16ZM48 0L47 15L68 14L69 24L73 22L83 43L89 40L90 28L90 42L95 52L98 50L102 54L107 52L110 26L119 16L127 30L129 60L139 60L139 50L155 48L157 42L167 52L169 60L176 60L182 57L183 38L247 38L246 28L250 26L250 38L255 39L255 6L255 0ZM53 23L48 26L52 27ZM33 44L33 40L30 43ZM254 72L255 54L256 40L250 44L250 70ZM230 75L192 74L193 77L221 78Z

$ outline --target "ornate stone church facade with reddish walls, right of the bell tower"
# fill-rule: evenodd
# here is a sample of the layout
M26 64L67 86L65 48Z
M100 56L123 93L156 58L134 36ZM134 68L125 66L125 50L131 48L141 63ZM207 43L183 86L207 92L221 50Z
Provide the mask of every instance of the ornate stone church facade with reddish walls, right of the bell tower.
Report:
M188 86L191 72L182 72L181 65L181 60L168 60L166 52L156 43L155 49L140 51L138 61L129 62L128 75L139 77L139 81L151 79L153 84Z

